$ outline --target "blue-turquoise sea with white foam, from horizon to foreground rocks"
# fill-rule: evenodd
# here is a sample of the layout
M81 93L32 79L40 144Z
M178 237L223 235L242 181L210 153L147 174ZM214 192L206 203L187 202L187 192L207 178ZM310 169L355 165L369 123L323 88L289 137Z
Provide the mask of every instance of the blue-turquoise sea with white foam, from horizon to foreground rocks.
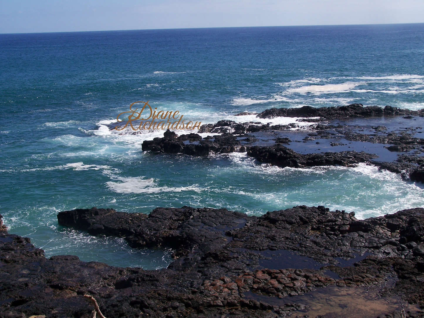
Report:
M31 237L47 256L160 268L172 251L61 228L57 212L190 205L261 215L306 204L367 218L424 206L422 184L372 166L154 156L142 141L163 132L120 135L106 126L137 100L202 123L259 121L233 115L271 107L421 109L423 34L423 24L2 34L0 209L9 232Z

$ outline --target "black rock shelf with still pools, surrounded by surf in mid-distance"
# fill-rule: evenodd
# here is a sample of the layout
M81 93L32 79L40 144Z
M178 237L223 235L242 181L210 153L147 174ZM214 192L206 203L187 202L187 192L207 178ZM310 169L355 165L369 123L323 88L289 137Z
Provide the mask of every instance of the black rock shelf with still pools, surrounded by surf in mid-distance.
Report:
M240 113L237 115L243 115ZM251 114L251 113L249 113ZM398 131L388 130L385 126L374 126L373 133L362 133L365 125L331 125L323 121L333 118L371 118L371 117L396 117L403 118L413 116L424 117L424 112L398 109L391 106L363 107L362 104L351 104L340 107L313 108L304 106L295 109L267 109L257 114L259 118L274 117L320 117L313 119L314 124L307 127L310 132L303 138L303 142L312 142L318 139L343 139L345 141L366 142L370 144L382 144L388 151L399 152L398 158L391 162L371 161L377 156L374 153L363 151L341 151L321 153L297 153L290 149L293 142L287 137L278 137L281 131L296 128L296 123L290 125L264 125L261 123L236 123L230 120L221 120L215 124L201 126L199 134L211 133L210 136L202 138L199 134L187 134L178 136L173 131L166 131L163 138L146 140L142 144L142 151L151 153L183 153L190 156L207 156L219 153L247 152L260 163L269 163L279 167L312 167L323 165L350 166L360 162L377 165L380 169L401 173L404 179L412 181L424 181L424 157L419 156L424 151L424 139L415 137L415 128ZM317 124L318 123L318 124ZM418 128L418 127L417 127ZM419 127L421 128L421 127ZM258 134L274 134L273 142L270 144L260 142ZM218 134L218 135L216 135ZM296 140L297 141L297 140ZM319 144L320 142L315 142ZM284 145L283 145L284 144ZM330 142L332 146L345 145L340 142ZM349 147L350 148L350 147ZM411 152L407 155L402 152Z

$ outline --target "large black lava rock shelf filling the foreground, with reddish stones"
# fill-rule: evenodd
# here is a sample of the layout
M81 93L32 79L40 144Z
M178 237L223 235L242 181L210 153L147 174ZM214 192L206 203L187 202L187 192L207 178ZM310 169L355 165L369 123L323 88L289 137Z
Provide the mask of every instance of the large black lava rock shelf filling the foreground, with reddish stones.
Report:
M367 220L324 206L261 217L189 206L156 208L149 215L92 208L60 212L58 220L91 234L125 237L134 247L170 246L174 261L166 269L144 271L69 255L46 259L29 238L3 231L2 317L88 318L92 306L84 294L95 296L108 318L307 317L325 306L317 311L310 302L302 304L302 296L320 290L335 299L337 293L354 293L359 303L362 296L375 295L367 298L371 307L376 301L374 311L364 312L369 317L400 317L402 308L409 311L406 317L424 317L423 208ZM324 266L278 268L277 254L283 251ZM351 259L354 266L340 264L356 255L364 256ZM262 259L278 269L262 268ZM334 316L331 306L328 310ZM338 317L342 314L354 313Z

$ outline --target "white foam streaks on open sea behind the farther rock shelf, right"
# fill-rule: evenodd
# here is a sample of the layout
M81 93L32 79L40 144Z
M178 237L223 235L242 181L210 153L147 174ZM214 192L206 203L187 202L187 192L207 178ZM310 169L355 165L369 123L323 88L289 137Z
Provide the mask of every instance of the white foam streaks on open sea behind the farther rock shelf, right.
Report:
M363 103L365 106L391 105L420 109L421 95L424 93L424 75L388 74L382 76L356 76L334 78L300 78L288 82L274 83L283 90L276 91L271 97L250 96L236 97L232 100L234 106L252 105L256 110L264 103L276 104L273 107L301 106L340 106L350 103ZM412 85L411 85L412 84ZM349 93L349 94L348 94ZM375 95L389 95L391 101L381 101ZM404 101L410 95L416 103ZM414 95L414 96L412 96ZM317 98L321 96L321 98ZM417 104L418 103L418 104ZM415 106L417 104L417 106ZM281 106L280 106L281 105ZM268 106L267 108L271 108ZM245 109L251 112L253 109ZM260 112L260 111L258 111Z

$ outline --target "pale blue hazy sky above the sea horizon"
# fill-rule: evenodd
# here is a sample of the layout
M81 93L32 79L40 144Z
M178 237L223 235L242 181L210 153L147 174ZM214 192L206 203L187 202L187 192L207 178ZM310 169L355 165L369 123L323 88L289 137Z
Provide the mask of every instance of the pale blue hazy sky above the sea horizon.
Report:
M424 22L424 0L0 0L0 33Z

